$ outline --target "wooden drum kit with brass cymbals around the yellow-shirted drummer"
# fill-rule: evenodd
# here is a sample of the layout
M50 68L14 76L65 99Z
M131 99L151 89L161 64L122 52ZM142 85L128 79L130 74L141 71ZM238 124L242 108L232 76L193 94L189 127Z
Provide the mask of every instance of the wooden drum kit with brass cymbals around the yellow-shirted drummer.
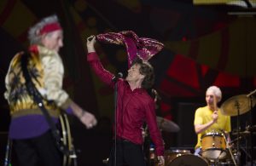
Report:
M247 126L244 131L240 131L240 115L249 112L252 110L253 106L255 106L256 99L253 97L254 93L256 93L256 90L254 90L251 94L233 96L230 99L225 100L220 107L220 110L224 115L231 117L236 116L237 131L232 132L232 135L235 135L236 138L233 139L229 145L227 145L224 132L212 131L201 136L200 156L191 154L189 150L166 150L165 165L241 165L240 140L242 138L246 138L247 136L254 135L256 131L256 125ZM179 127L176 123L173 123L172 121L166 120L162 117L157 117L157 123L160 130L167 132L179 131ZM250 123L252 123L252 119ZM251 149L253 149L253 147L251 147ZM253 165L253 158L249 155L249 152L246 152L246 155L252 159L251 163ZM150 165L155 166L158 164L154 163Z

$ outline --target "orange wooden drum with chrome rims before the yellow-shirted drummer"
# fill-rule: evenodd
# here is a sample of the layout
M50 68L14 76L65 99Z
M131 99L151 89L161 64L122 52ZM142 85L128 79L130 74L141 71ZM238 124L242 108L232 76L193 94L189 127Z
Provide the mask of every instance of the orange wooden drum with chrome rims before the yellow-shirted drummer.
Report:
M208 159L223 159L226 157L226 141L220 133L207 133L201 136L201 156Z

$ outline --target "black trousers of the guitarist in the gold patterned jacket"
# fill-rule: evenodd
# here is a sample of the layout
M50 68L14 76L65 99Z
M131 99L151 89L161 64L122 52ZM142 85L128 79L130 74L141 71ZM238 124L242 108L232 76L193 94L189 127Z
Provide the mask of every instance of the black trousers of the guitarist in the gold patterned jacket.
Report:
M32 139L13 142L19 166L61 166L61 152L50 131Z

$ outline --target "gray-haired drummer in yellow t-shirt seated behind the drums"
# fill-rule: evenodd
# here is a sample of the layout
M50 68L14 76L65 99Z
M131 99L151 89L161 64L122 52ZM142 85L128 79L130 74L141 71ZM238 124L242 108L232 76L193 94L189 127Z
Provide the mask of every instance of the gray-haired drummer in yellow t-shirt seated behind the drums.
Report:
M207 89L207 106L197 108L195 111L195 133L197 135L197 144L195 146L195 155L201 152L201 136L211 132L225 133L227 145L230 142L230 116L225 116L218 108L218 102L221 100L222 93L217 86L211 86Z

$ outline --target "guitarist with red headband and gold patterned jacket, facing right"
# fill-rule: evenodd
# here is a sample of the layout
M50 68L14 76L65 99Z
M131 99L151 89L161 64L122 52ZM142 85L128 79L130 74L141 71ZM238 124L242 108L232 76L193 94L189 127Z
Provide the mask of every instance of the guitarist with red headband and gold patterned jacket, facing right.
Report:
M63 31L57 16L51 15L32 26L28 38L31 45L26 68L53 122L58 123L62 109L78 117L87 129L94 127L96 117L74 103L62 89L64 67L58 52L63 46ZM20 166L61 166L61 152L49 123L26 87L20 62L24 54L15 54L5 78L4 96L11 115L9 139L13 140Z

